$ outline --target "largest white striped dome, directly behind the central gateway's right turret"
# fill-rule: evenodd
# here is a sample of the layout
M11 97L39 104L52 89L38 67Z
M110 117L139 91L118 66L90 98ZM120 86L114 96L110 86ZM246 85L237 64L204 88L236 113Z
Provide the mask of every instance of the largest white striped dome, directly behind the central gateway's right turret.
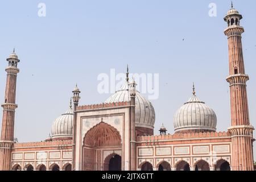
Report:
M121 86L121 88L110 96L105 103L130 101L129 82ZM155 110L151 102L144 98L141 93L136 92L135 98L135 126L154 129Z

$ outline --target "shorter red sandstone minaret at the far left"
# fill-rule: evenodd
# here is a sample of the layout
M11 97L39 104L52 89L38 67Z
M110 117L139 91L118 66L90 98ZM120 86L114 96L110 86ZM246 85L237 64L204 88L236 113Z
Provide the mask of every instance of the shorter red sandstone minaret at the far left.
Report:
M0 140L0 171L9 171L11 169L11 147L14 143L14 117L15 109L18 105L15 104L16 96L16 79L19 69L18 56L15 50L6 59L8 67L5 69L7 72L6 89L5 89L5 103L3 107L3 120L2 132Z

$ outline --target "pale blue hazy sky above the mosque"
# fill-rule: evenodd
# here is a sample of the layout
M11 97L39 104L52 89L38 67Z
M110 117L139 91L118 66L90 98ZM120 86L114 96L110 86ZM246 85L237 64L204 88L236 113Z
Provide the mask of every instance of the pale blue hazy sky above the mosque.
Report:
M40 2L46 3L43 18ZM214 18L208 15L212 2ZM233 2L243 15L250 121L256 127L256 1ZM127 63L131 73L159 73L159 99L152 101L156 134L162 123L174 133L173 115L191 97L192 82L200 100L216 112L217 130L226 131L230 106L223 18L229 9L229 0L1 1L2 101L6 57L15 47L20 58L15 137L19 142L46 139L52 122L68 109L76 82L81 105L105 101L110 94L97 92L97 76L111 68L125 72Z

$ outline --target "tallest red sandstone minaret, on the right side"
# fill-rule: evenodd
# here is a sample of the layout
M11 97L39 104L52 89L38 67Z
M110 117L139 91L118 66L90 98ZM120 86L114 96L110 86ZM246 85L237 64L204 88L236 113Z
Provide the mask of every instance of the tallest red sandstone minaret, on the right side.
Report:
M229 47L229 77L230 84L231 127L232 137L232 163L234 171L253 170L253 126L249 121L247 103L246 81L249 76L245 74L243 63L242 33L240 26L242 15L233 8L233 3L224 20L228 23L225 35L228 36Z

